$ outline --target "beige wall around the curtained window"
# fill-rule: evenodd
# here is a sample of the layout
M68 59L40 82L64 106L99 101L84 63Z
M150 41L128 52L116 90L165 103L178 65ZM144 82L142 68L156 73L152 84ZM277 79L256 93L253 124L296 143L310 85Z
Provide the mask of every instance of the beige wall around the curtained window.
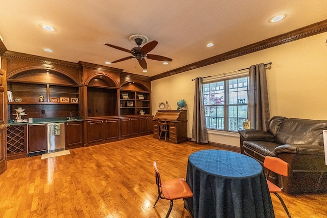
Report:
M188 104L188 137L191 138L195 77L218 75L272 62L267 68L270 115L327 120L327 33L254 52L217 64L157 79L151 82L152 113L168 100L176 110L177 100ZM217 48L219 49L219 48ZM178 61L178 60L174 60ZM209 141L239 146L234 133L209 131Z

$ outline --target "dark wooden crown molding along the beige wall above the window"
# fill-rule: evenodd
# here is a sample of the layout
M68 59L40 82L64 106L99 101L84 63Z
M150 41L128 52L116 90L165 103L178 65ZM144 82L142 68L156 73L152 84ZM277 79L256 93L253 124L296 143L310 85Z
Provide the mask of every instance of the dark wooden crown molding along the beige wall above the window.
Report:
M208 66L211 64L215 64L218 62L226 61L229 59L237 58L243 55L247 55L252 52L260 51L263 49L271 48L277 45L282 45L288 42L292 42L295 40L303 39L309 36L313 36L319 33L327 32L327 20L323 20L308 26L305 26L303 28L281 34L275 37L271 37L268 39L265 39L260 42L256 42L250 45L246 45L241 48L237 48L231 51L227 51L225 53L222 53L220 55L204 59L202 61L198 61L189 65L185 65L183 67L176 68L174 70L170 70L164 73L160 73L154 76L151 76L151 81L164 78L167 76L172 76L178 73L182 73L185 71L193 70L196 68Z

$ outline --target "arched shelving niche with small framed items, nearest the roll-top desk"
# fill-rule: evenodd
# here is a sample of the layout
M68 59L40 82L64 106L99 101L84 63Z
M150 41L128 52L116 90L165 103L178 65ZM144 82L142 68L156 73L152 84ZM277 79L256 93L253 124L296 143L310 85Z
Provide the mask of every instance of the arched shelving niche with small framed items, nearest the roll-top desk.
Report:
M126 81L120 86L120 114L128 116L141 113L151 115L151 92L139 81Z

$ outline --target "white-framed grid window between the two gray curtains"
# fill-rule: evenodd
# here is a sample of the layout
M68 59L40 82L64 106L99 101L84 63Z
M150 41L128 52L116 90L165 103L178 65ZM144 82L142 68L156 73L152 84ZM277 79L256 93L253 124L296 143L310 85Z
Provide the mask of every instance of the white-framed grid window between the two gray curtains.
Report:
M237 131L247 119L249 77L203 84L205 122L208 129Z

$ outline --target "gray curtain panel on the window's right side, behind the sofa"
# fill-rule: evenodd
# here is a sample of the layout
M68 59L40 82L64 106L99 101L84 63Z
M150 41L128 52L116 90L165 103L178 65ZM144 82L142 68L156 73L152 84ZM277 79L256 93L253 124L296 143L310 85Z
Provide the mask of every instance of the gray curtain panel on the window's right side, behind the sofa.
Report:
M247 118L251 121L251 129L267 130L270 113L264 63L250 67Z

